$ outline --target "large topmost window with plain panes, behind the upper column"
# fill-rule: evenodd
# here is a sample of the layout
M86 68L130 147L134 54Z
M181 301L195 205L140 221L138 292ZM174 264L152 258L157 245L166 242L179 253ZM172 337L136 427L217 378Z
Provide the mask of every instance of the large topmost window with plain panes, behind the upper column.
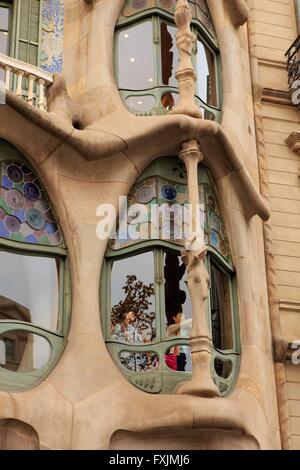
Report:
M192 30L197 36L193 63L197 72L196 103L205 118L220 111L219 57L215 32L204 1L191 1ZM137 114L165 114L179 95L179 63L174 24L175 2L130 2L116 30L116 76L120 93Z

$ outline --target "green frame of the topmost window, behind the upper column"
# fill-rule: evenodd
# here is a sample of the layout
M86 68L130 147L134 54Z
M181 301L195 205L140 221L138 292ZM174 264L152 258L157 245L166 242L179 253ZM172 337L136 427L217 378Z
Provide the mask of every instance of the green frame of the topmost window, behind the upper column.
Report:
M175 26L174 18L172 15L166 11L163 11L158 8L151 8L145 11L141 11L136 15L126 18L120 18L116 32L115 32L115 76L116 81L119 83L119 38L122 33L128 28L133 26L141 25L147 21L152 22L152 38L153 38L153 56L154 56L154 84L153 86L149 86L144 89L125 89L119 88L120 95L125 103L125 105L129 108L129 110L136 115L152 115L152 114L166 114L169 109L165 109L162 105L162 97L166 93L171 93L172 96L175 98L178 96L178 88L177 86L170 86L164 85L162 82L162 65L161 65L161 28L160 25L165 23L170 26ZM201 41L203 46L207 48L212 56L214 57L214 74L215 74L215 95L216 95L216 104L210 105L205 103L200 99L195 93L195 100L196 103L201 107L204 111L204 117L206 119L212 119L216 121L220 121L221 119L221 110L222 110L222 81L221 81L221 59L219 53L219 47L216 39L210 34L210 32L201 24L199 20L196 18L193 19L192 22L192 31L196 34L198 41ZM197 61L197 47L194 48L193 53L193 64L196 68L196 61ZM152 96L153 106L151 104L147 107L147 111L139 112L137 107L133 108L130 106L130 98L139 97L149 97ZM141 101L140 101L141 102ZM150 103L150 101L149 101ZM149 109L148 109L149 108Z

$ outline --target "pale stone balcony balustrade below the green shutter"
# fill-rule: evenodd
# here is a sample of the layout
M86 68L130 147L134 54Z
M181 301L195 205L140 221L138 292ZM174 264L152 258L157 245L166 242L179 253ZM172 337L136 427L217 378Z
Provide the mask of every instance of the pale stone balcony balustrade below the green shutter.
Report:
M53 83L53 74L34 65L0 54L0 80L5 90L39 109L47 110L46 88Z

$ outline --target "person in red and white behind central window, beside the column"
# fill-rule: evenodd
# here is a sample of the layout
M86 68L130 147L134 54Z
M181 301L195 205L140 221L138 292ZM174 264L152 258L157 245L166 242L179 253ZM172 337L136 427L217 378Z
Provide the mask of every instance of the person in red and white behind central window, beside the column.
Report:
M172 320L173 323L169 325L167 329L167 336L180 336L181 338L189 338L192 320L185 320L185 316L182 312L178 312L176 315L174 315ZM169 354L167 354L165 357L167 366L172 370L185 372L187 353L189 353L189 346L173 346L170 349Z

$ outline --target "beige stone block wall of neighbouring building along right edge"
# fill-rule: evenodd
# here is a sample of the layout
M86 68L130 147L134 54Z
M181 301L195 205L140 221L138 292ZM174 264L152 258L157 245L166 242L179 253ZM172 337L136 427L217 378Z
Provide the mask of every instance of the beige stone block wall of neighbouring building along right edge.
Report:
M281 330L300 338L300 158L286 144L300 131L299 111L288 103L285 59L297 36L294 0L255 0L253 6ZM292 448L300 449L299 366L286 366L286 380Z

